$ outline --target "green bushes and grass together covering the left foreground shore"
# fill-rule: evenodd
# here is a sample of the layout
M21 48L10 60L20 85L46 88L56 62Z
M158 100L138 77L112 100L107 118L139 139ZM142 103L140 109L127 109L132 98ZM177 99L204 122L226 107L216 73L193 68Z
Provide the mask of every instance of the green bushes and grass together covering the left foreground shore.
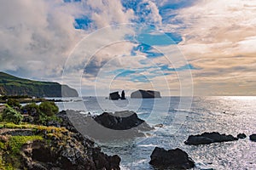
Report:
M61 118L55 116L59 108L54 102L44 101L40 105L31 103L23 107L20 107L17 99L8 99L7 103L9 105L3 105L0 111L0 132L16 131L16 133L0 135L0 169L20 169L22 167L20 160L23 156L20 155L20 150L24 144L28 144L30 141L43 140L45 144L52 144L52 141L60 139L58 145L65 145L67 144L65 141L71 139L66 135L68 130L65 127L44 126L49 121L61 121ZM32 122L26 122L23 117L32 118ZM23 133L23 130L20 129L26 129L31 133Z

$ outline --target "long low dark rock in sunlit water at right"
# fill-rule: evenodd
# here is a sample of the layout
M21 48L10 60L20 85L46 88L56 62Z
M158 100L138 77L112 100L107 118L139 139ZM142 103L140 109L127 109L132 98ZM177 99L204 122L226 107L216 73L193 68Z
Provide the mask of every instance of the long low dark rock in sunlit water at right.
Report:
M190 135L189 139L187 139L184 143L185 144L212 144L218 142L227 142L227 141L234 141L237 140L232 135L220 134L220 133L202 133L197 135Z

